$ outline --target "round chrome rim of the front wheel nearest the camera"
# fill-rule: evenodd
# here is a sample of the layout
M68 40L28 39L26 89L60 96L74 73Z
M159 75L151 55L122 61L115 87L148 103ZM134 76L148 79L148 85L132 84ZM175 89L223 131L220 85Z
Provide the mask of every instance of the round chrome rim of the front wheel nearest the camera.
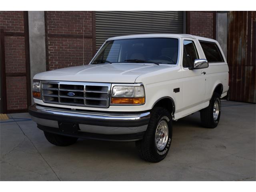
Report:
M163 150L168 141L168 124L165 120L158 123L155 134L155 143L158 150Z

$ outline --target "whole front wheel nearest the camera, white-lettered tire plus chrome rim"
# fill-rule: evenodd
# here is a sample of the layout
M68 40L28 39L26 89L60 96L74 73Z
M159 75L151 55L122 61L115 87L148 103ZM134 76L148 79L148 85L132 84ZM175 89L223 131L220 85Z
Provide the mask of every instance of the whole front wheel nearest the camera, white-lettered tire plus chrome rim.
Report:
M148 162L163 160L172 141L172 117L162 107L152 109L148 128L142 140L136 141L140 157Z

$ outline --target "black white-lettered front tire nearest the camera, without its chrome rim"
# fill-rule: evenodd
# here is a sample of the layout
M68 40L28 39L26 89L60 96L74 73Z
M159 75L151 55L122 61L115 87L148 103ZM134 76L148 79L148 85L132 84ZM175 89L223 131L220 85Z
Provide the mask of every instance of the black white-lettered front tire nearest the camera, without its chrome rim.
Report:
M165 120L168 124L168 141L163 150L158 150L155 142L155 134L158 123ZM148 128L142 140L136 141L136 148L140 158L148 162L160 162L163 160L172 141L172 117L170 112L162 107L154 107L150 112Z

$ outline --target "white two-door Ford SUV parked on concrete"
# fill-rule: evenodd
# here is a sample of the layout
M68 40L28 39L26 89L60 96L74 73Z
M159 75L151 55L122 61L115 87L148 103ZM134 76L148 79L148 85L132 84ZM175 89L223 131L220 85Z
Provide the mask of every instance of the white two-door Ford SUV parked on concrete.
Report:
M29 113L57 146L78 138L136 141L142 159L163 160L172 120L200 111L215 128L228 92L228 65L216 40L188 34L109 38L88 65L34 76Z

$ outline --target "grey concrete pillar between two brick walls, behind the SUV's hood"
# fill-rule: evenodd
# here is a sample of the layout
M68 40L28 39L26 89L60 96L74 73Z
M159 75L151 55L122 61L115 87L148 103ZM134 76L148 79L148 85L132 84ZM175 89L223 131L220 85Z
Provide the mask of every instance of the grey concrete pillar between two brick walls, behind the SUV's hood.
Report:
M46 71L45 26L43 11L28 12L31 86L35 74ZM32 97L32 89L31 89ZM32 97L32 104L34 103Z

